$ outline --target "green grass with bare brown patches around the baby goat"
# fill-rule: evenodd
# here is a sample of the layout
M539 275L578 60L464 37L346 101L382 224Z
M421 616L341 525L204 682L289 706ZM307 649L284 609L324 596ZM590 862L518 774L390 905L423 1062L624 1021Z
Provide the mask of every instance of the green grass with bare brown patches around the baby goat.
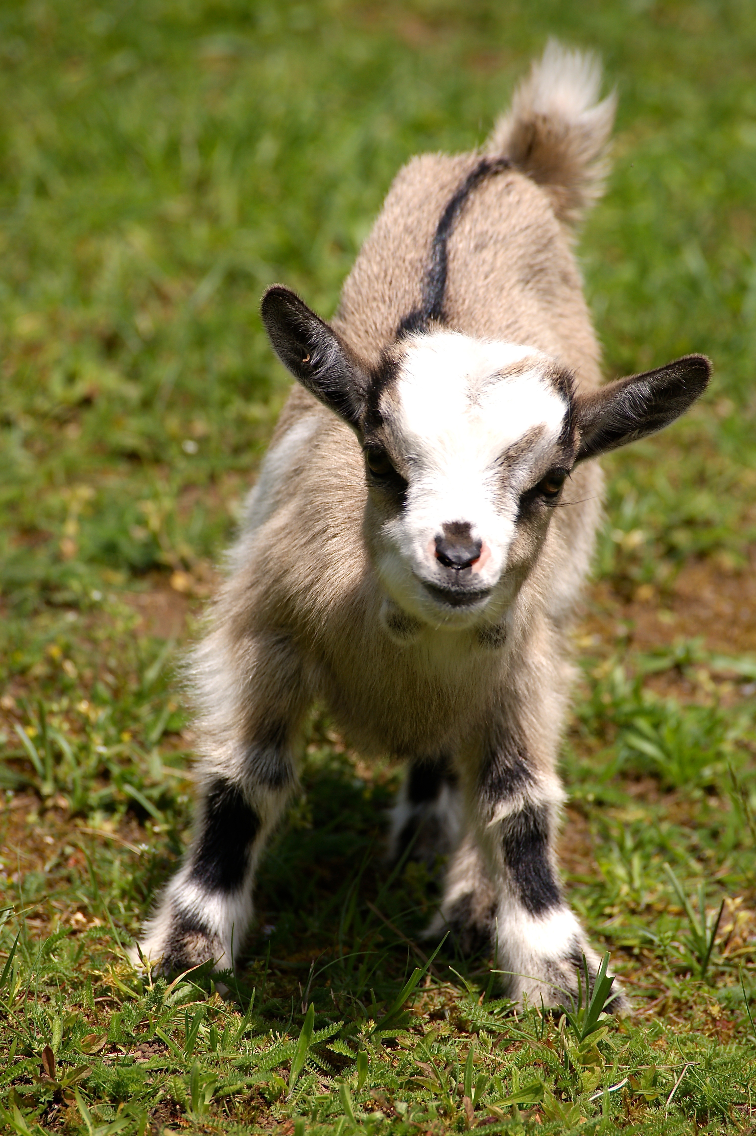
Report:
M398 771L320 711L227 993L141 979L191 812L175 668L286 395L260 293L333 311L396 169L481 141L549 34L620 92L580 242L607 375L715 365L606 462L564 746L571 899L636 1013L514 1014L490 959L429 962L437 885L381 859ZM8 1131L753 1130L755 41L746 0L3 6Z

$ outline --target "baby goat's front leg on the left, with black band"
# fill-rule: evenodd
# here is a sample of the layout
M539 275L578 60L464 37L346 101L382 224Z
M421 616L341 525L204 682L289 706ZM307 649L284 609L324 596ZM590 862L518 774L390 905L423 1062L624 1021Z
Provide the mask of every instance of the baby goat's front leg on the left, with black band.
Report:
M296 660L282 640L244 644L240 654L219 632L195 654L204 758L194 836L140 938L163 974L210 960L233 967L260 854L296 786L291 741L305 704Z

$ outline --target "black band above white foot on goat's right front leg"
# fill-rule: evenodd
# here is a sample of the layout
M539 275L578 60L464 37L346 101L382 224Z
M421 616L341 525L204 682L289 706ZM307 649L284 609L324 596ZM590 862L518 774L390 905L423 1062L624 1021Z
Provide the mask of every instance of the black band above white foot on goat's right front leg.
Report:
M520 900L531 916L562 903L548 857L549 822L544 805L529 804L502 825L504 859Z

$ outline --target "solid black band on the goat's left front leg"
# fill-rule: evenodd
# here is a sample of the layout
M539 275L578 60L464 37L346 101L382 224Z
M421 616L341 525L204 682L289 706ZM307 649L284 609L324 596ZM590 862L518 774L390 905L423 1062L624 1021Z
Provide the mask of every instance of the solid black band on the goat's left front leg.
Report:
M230 782L218 779L208 792L202 832L191 878L209 892L233 892L244 882L250 847L260 818Z

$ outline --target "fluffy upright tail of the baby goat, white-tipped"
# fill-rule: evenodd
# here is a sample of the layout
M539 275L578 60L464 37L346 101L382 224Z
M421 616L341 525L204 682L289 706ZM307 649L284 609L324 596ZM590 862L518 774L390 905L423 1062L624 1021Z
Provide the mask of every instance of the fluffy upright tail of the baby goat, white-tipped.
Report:
M560 220L576 224L600 197L616 94L598 102L602 68L591 52L546 44L486 150L509 158L548 193Z

